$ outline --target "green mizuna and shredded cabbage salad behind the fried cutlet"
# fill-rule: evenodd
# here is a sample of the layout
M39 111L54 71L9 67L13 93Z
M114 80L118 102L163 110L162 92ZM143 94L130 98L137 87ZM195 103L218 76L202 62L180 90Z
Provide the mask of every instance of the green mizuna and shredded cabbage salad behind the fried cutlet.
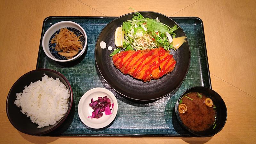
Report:
M177 25L172 28L160 22L158 17L153 20L144 18L139 12L133 15L132 20L123 22L124 31L124 51L128 50L146 50L163 47L165 50L175 50L172 46L172 38L175 38ZM117 48L109 56L113 56L121 51Z

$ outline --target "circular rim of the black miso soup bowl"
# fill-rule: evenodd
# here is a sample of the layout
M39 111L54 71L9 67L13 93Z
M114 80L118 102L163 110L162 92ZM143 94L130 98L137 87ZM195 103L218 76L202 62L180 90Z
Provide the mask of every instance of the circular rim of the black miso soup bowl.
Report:
M213 133L213 134L209 134L209 135L200 135L200 134L197 134L197 133L195 133L194 131L190 130L185 124L183 124L182 120L180 119L179 112L177 112L177 111L178 111L177 107L178 107L178 105L179 105L179 102L180 102L181 97L182 97L186 92L188 92L189 90L191 90L191 89L196 89L196 88L208 89L208 90L210 90L210 91L215 92L214 90L212 90L212 89L210 89L210 88L208 88L208 87L204 87L204 86L195 86L195 87L191 87L191 88L187 89L185 92L183 92L183 93L180 95L180 98L179 98L178 101L176 102L176 104L175 104L175 113L176 113L176 116L177 116L177 119L178 119L179 123L180 123L181 126L184 127L186 130L188 130L188 131L191 132L192 134L197 135L197 136L200 136L200 137L211 137L211 136L217 134L218 132L220 132L220 131L223 129L223 127L225 126L225 124L226 124L226 122L227 122L227 118L228 118L228 111L227 111L226 104L225 104L224 100L221 98L221 96L220 96L217 92L215 92L215 93L217 93L217 95L220 97L221 101L224 103L224 106L225 106L225 108L226 108L226 114L227 114L226 119L225 119L225 123L223 124L223 126L220 128L219 131L217 131L217 132L215 132L215 133Z

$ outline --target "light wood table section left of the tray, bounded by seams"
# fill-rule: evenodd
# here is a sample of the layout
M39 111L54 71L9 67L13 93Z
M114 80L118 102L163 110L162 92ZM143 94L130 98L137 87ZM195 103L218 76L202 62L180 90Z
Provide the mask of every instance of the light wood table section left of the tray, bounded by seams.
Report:
M57 7L59 5L59 7ZM104 16L76 0L0 1L0 79L3 99L14 82L36 68L43 20L48 16ZM0 102L0 112L5 109Z

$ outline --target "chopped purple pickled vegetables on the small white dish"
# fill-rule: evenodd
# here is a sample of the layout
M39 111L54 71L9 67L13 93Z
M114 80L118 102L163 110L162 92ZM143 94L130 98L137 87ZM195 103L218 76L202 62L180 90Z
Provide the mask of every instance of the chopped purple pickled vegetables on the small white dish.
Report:
M98 100L93 100L91 99L91 103L89 104L89 106L93 109L93 112L92 112L92 116L88 116L88 117L91 117L91 118L100 118L102 117L102 112L105 112L106 115L110 115L112 114L111 113L111 110L110 109L110 106L111 106L111 101L110 99L108 99L107 96L105 97L98 97ZM114 103L112 103L112 108L114 106Z

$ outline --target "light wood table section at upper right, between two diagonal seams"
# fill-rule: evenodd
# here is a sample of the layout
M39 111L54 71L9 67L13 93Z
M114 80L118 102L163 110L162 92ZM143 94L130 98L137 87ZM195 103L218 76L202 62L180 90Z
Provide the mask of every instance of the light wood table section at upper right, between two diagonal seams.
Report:
M204 22L210 72L256 98L256 1L202 0L172 16Z

